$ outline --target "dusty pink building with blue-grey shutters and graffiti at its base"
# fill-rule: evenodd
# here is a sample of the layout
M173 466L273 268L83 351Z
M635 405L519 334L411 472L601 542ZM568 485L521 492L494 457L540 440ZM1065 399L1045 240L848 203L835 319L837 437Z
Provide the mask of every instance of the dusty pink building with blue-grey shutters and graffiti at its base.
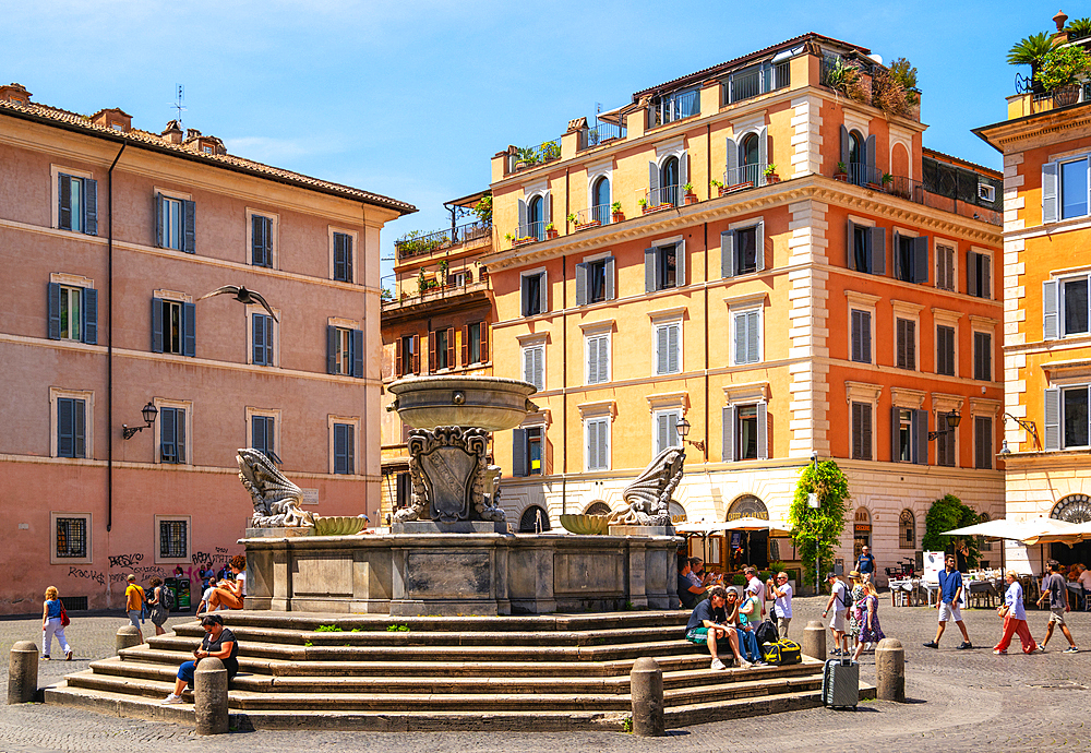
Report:
M379 235L412 211L0 87L0 613L220 566L253 512L238 447L283 458L307 509L375 516ZM197 302L223 285L276 319Z

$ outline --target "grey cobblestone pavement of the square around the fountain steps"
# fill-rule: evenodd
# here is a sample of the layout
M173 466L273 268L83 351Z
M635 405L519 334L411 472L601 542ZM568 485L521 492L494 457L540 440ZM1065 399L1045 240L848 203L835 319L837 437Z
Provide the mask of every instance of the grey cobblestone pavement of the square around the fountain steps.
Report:
M793 637L807 620L816 619L824 599L796 599ZM883 629L906 646L907 694L910 703L870 702L855 712L813 708L753 719L723 721L671 730L666 739L640 739L612 732L519 734L509 732L372 733L372 732L238 732L197 738L191 728L118 719L83 710L26 704L0 707L0 752L128 751L137 745L158 750L219 751L291 749L295 753L331 750L416 751L533 751L550 749L596 751L662 751L692 753L736 749L799 751L1007 751L1091 750L1091 613L1071 613L1077 644L1087 653L1067 655L1057 632L1046 654L1023 656L1018 638L1008 656L994 656L1000 632L993 610L963 612L972 650L956 650L961 636L951 625L940 649L921 644L935 634L936 612L925 607L882 605ZM1030 611L1036 640L1045 634L1046 612ZM192 618L173 618L168 629ZM113 634L124 624L119 617L75 617L69 640L75 660L39 666L39 685L86 668L92 658L113 653ZM0 646L15 641L40 643L36 619L0 619ZM874 657L864 654L861 677L874 682ZM7 685L7 661L0 681Z

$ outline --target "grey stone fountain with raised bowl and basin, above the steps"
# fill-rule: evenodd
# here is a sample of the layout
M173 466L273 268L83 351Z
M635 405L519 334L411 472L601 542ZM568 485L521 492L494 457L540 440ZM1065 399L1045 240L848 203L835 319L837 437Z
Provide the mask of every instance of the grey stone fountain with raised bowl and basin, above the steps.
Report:
M298 516L285 519L302 527L248 529L248 609L485 615L667 609L676 600L675 539L646 514L666 510L676 479L669 488L642 481L645 502L623 511L628 525L610 535L514 534L497 505L501 469L488 463L489 434L538 409L533 385L428 375L387 389L389 409L412 427L410 505L389 534L315 535ZM680 461L666 459L680 471Z

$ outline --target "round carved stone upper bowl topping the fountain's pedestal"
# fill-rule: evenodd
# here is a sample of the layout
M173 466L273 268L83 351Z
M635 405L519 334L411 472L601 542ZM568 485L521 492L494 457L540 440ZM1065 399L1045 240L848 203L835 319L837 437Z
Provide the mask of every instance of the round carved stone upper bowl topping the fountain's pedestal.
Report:
M442 426L504 431L538 410L530 402L537 390L529 382L501 376L410 376L386 387L401 420L415 429Z

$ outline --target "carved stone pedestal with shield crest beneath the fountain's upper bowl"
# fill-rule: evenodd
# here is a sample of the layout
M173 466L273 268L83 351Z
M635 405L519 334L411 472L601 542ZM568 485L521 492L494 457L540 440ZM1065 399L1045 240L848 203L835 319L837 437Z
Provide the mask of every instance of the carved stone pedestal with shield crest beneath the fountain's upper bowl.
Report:
M409 432L412 499L394 515L407 521L503 523L497 466L488 464L489 432L472 427L436 427Z

